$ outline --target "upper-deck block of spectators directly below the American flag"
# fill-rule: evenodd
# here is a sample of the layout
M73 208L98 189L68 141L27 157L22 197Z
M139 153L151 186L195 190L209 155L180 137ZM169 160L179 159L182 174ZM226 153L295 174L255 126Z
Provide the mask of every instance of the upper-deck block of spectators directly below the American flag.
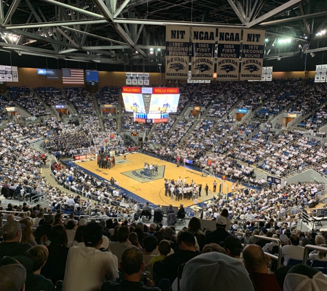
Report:
M75 106L78 114L95 114L92 94L84 88L64 88L68 99Z

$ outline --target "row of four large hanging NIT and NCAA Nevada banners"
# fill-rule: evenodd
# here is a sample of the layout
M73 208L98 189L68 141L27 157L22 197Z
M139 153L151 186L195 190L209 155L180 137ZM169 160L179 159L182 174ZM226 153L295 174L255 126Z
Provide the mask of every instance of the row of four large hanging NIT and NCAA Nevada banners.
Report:
M239 72L241 80L261 80L264 35L265 30L219 28L215 71L216 28L166 26L166 79L188 79L191 55L193 80L212 80L213 72L219 80L238 80Z

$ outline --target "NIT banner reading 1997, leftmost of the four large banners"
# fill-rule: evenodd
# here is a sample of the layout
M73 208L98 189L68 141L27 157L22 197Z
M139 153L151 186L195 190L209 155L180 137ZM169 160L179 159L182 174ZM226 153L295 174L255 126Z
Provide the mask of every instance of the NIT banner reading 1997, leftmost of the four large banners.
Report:
M189 27L166 26L166 79L187 79Z

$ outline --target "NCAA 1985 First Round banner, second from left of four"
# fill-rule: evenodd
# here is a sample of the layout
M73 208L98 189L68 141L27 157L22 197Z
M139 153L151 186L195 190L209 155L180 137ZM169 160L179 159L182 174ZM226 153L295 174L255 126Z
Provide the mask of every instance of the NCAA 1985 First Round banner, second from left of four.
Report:
M215 28L192 28L192 50L191 79L213 79L215 67Z

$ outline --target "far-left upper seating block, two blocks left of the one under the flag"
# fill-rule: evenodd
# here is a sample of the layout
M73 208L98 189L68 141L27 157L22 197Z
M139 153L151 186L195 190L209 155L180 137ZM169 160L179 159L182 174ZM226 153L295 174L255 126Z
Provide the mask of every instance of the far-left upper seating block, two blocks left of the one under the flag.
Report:
M50 115L50 111L28 87L10 87L9 97L34 117Z

